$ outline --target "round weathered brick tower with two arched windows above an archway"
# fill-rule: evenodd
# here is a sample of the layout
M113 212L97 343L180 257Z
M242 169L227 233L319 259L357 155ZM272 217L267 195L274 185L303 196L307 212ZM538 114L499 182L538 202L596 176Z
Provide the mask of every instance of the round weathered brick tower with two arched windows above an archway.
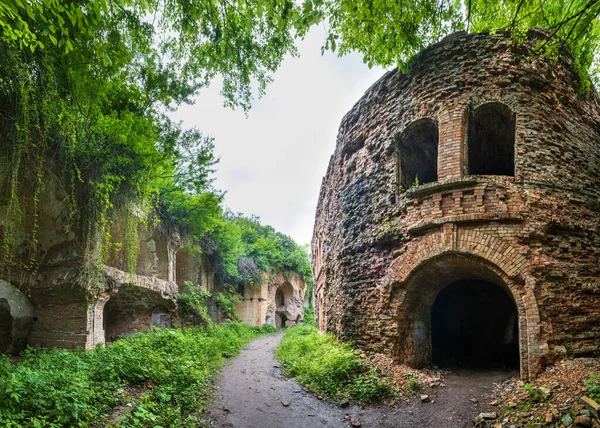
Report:
M320 329L412 366L600 354L600 102L456 33L344 117L312 242Z

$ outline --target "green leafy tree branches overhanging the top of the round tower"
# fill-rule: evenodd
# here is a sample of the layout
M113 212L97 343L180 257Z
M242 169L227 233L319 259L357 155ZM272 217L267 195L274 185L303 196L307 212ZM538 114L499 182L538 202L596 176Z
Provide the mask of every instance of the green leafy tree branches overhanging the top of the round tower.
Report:
M588 74L598 80L598 0L323 0L318 10L329 22L324 49L359 51L369 66L406 70L419 51L457 30L508 31L518 40L542 27L551 38L538 45L540 54L567 48L583 86Z

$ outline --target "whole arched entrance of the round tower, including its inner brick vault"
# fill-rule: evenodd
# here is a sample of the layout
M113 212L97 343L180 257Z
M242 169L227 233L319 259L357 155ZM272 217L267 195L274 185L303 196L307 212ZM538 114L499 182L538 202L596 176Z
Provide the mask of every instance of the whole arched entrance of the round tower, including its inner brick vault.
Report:
M509 281L472 255L446 253L421 263L397 288L399 360L415 367L526 363L525 308Z

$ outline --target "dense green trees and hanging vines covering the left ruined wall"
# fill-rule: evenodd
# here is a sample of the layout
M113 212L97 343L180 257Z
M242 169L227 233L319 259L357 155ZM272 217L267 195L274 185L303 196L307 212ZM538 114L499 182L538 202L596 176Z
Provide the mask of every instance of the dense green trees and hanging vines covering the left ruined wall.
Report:
M110 252L111 217L133 207L177 217L194 205L207 211L196 234L210 231L220 213L212 143L166 112L216 76L225 104L248 108L252 85L263 93L307 19L289 1L2 2L3 269L35 269L36 204L50 176L92 266ZM173 202L182 195L186 204Z

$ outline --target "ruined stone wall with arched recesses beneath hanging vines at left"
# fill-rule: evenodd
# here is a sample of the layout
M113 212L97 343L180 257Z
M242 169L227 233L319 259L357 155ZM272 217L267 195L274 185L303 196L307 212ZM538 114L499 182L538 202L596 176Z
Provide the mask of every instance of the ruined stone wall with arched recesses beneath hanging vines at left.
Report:
M70 198L60 179L46 176L37 205L30 196L23 196L23 221L11 237L14 263L0 266L0 353L18 353L27 344L91 349L152 325L169 325L177 301L177 253L186 259L182 288L184 280L212 285L214 268L201 256L184 257L176 230L143 221L136 273L125 272L122 254L111 248L106 265L95 260L98 278L88 283L85 257L95 256L84 253L80 236L68 227ZM9 209L9 201L0 198L0 218ZM125 228L116 221L113 239L127 239ZM4 233L0 227L0 240Z

